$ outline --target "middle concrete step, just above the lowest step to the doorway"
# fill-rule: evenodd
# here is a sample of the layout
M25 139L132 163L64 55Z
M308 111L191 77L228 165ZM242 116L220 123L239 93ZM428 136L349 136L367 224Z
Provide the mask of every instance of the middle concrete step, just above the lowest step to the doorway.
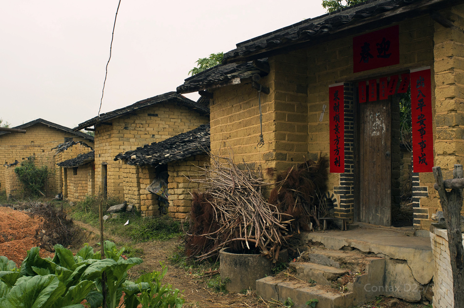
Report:
M330 286L336 282L340 276L349 271L336 267L329 267L311 262L292 262L290 268L295 270L295 277L303 281L315 281L319 285Z

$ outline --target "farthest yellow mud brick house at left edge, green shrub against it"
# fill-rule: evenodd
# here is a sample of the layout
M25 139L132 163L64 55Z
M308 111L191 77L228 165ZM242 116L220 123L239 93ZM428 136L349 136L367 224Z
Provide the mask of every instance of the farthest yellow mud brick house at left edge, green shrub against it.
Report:
M56 149L64 143L82 143L85 146L93 146L94 138L79 131L73 131L71 128L37 119L14 128L26 130L25 134L0 132L0 189L6 189L7 195L21 189L21 185L16 179L14 166L8 166L18 161L20 164L28 157L34 156L37 165L45 165L49 168L55 168ZM74 152L73 152L74 153ZM78 155L80 154L72 154ZM70 156L63 154L66 159ZM71 154L69 154L71 155ZM49 181L49 192L60 192L60 169L57 169L55 178ZM8 179L8 180L7 180Z

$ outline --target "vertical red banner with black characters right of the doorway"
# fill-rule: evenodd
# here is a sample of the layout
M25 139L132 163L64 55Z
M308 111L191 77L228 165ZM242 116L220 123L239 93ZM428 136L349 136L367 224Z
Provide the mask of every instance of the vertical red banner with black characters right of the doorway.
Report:
M432 172L432 82L430 67L411 70L412 154L414 172Z

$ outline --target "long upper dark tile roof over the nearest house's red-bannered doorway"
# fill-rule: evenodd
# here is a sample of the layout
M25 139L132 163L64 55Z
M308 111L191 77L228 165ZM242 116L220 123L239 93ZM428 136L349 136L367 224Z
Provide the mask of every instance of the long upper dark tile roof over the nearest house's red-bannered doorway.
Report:
M444 4L462 3L462 0L370 0L313 19L297 22L282 29L236 44L237 48L224 54L223 63L249 61L267 57L276 49L295 48L297 44L316 41L347 29L366 29L370 22L394 18L400 21L412 12L428 14L429 10L443 8Z

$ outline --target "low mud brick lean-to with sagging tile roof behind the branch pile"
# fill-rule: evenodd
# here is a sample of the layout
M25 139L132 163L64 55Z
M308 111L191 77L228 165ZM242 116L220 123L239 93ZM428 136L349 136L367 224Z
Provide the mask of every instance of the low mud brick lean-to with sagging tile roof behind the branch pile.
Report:
M135 181L133 178L125 177L129 180L125 184L128 191L125 194L126 201L131 204L141 204L143 195L152 195L146 189L153 181L151 175L167 172L168 193L165 194L169 201L167 213L173 218L186 218L192 200L190 192L199 188L199 184L190 182L189 178L198 176L201 168L209 163L207 154L209 149L210 125L203 124L164 141L145 144L136 150L118 154L115 159L126 163L123 172L130 171L135 166L138 175ZM157 210L155 206L151 208L149 205L141 206L142 214L146 216L155 214Z

